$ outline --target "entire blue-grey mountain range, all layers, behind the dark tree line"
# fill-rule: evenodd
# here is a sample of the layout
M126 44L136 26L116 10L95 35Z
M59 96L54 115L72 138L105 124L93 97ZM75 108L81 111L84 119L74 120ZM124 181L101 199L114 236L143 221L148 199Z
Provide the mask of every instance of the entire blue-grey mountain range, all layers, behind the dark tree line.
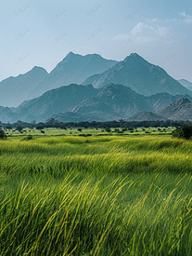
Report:
M17 83L20 87L15 86ZM50 74L34 67L27 74L2 81L0 88L0 121L5 123L39 122L51 117L63 122L108 121L133 115L163 120L177 115L158 114L163 107L181 97L192 101L192 91L136 53L118 62L97 54L70 52ZM30 98L34 99L19 104L21 99ZM19 106L5 107L14 104Z

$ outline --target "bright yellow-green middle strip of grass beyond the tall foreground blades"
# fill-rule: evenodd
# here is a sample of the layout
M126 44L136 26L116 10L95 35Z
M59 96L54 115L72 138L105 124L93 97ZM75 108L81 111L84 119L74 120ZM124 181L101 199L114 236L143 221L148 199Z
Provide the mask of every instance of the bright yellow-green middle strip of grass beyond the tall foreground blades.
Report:
M191 141L172 138L43 138L1 141L0 168L12 176L69 171L127 174L192 171Z

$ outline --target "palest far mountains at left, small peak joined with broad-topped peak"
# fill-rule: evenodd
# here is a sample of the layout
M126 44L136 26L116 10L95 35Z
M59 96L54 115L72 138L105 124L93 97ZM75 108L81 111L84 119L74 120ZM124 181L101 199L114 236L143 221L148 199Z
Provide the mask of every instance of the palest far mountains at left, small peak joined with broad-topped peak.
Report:
M44 68L34 67L26 74L10 76L0 82L0 105L17 107L22 101L36 98L45 91L81 84L83 80L96 73L102 73L118 61L110 61L98 54L85 56L70 52L63 61L48 74Z

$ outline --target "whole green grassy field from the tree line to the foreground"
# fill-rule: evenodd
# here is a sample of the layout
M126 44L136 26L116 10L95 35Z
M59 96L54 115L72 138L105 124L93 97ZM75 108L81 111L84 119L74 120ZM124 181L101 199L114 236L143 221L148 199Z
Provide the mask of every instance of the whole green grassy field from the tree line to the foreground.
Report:
M192 142L172 129L6 131L0 255L192 255Z

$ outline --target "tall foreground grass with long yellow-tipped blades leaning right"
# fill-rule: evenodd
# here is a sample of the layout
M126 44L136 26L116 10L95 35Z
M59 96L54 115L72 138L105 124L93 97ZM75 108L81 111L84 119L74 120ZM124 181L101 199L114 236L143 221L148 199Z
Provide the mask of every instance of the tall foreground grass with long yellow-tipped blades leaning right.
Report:
M189 175L1 182L0 255L191 255Z

